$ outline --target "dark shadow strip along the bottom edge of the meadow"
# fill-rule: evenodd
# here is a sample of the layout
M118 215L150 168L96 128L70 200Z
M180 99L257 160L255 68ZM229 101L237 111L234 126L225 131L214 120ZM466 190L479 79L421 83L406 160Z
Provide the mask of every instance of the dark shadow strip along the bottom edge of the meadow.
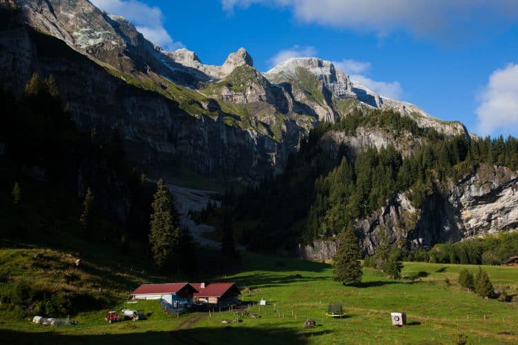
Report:
M301 322L303 326L303 322ZM64 335L0 330L3 344L309 344L332 331L287 328L220 326L178 331L106 335Z

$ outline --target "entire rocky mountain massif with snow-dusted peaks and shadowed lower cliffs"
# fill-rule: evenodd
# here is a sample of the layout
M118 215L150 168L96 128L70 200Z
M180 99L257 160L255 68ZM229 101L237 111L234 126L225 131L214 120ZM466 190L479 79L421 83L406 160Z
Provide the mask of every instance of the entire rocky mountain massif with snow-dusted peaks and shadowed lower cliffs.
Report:
M261 74L243 48L222 66L204 65L189 50L164 52L131 22L86 0L0 4L10 9L3 14L1 81L20 93L32 72L55 75L77 124L88 132L119 122L131 158L151 172L181 164L209 178L257 180L282 171L287 155L321 121L391 101L316 58L291 59ZM439 128L424 112L419 118ZM441 126L447 134L466 133L461 125ZM370 133L357 137L357 143L336 139L356 151L373 140Z

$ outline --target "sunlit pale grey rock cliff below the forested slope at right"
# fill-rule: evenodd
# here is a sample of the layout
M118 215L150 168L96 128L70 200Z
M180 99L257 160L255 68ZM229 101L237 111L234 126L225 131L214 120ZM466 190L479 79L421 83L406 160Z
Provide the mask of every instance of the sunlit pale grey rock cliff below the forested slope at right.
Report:
M477 172L446 190L434 190L421 209L405 194L394 195L387 206L359 219L355 228L364 253L374 254L381 232L391 244L431 248L472 235L518 228L518 172L505 167L479 167ZM316 240L301 248L307 259L331 259L336 242Z

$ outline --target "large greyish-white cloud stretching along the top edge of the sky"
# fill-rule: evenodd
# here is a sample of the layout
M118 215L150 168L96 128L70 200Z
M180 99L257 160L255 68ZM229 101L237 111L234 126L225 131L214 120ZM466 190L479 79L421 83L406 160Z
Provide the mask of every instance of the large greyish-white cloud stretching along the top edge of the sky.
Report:
M287 7L307 23L374 32L403 29L416 37L469 37L489 23L518 18L516 0L220 0L224 10L253 4Z

